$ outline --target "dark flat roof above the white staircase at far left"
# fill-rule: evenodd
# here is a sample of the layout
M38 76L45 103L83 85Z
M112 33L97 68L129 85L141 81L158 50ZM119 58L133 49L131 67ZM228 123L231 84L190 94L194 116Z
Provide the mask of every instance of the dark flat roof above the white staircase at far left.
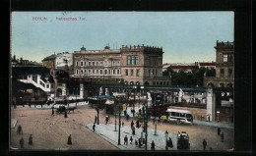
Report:
M45 67L12 67L13 75L48 75L50 70Z

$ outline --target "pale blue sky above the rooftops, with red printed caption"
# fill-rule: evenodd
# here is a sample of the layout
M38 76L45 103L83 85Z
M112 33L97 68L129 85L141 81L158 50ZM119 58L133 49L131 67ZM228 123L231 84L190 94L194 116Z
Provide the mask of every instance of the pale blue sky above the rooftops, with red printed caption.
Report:
M101 50L106 44L114 49L145 44L162 47L163 63L215 61L216 41L233 41L233 19L233 12L14 12L11 52L41 62L83 45Z

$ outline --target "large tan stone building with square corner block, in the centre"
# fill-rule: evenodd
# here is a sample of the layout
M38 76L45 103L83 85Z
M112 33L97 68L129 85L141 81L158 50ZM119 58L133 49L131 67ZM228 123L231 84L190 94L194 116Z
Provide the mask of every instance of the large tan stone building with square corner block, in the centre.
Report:
M118 78L124 84L170 85L170 78L162 77L162 48L150 46L122 46L120 49L75 51L74 78Z

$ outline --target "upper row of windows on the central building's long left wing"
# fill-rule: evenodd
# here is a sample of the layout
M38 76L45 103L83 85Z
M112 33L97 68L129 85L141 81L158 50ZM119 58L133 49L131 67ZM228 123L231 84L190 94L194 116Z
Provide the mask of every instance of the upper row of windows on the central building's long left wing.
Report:
M120 61L77 61L77 66L86 67L86 66L120 66Z

